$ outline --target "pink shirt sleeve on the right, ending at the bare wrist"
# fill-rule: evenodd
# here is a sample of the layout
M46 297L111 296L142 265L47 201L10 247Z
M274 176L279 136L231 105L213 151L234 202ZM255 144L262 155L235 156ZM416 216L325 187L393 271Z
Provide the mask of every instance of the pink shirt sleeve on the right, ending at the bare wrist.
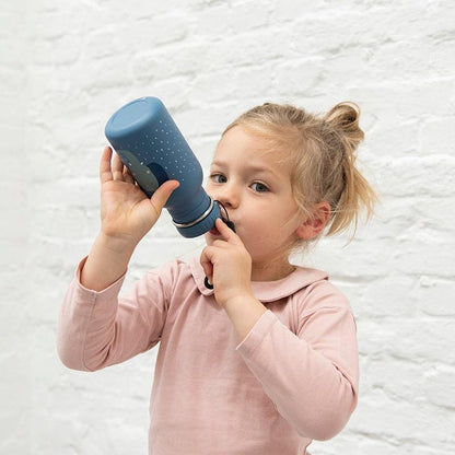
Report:
M296 431L327 440L357 405L355 325L347 310L320 308L294 335L267 312L237 351Z

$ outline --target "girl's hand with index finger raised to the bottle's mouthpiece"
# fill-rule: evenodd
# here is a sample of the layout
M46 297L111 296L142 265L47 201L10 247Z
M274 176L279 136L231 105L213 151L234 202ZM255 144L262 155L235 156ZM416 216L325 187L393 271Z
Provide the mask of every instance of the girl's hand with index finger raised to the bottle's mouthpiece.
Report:
M210 283L213 284L217 302L225 305L235 299L252 296L252 257L243 242L221 219L215 228L222 238L206 246L200 264Z

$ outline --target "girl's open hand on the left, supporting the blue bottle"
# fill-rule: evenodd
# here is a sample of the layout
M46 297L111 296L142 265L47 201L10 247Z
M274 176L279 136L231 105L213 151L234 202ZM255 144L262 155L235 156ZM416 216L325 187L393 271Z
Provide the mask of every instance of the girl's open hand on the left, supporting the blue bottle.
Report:
M152 229L171 194L179 185L167 180L149 199L120 158L106 147L100 163L102 233L135 245Z

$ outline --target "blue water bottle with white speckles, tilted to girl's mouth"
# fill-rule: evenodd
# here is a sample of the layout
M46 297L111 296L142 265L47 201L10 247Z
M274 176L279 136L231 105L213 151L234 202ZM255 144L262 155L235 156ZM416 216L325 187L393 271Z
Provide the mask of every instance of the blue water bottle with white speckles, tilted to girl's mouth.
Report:
M164 207L184 237L214 226L220 208L201 186L202 167L159 98L139 98L118 109L105 135L147 196L166 180L180 183Z

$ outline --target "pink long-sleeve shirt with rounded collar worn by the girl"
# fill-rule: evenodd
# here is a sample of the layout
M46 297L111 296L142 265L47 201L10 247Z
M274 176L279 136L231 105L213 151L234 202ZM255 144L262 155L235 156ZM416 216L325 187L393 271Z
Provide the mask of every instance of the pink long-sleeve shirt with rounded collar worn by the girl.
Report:
M150 404L152 455L303 455L336 435L357 404L355 323L325 272L298 267L253 282L267 307L241 342L197 259L147 272L119 296L79 281L66 294L58 352L75 370L160 343Z

